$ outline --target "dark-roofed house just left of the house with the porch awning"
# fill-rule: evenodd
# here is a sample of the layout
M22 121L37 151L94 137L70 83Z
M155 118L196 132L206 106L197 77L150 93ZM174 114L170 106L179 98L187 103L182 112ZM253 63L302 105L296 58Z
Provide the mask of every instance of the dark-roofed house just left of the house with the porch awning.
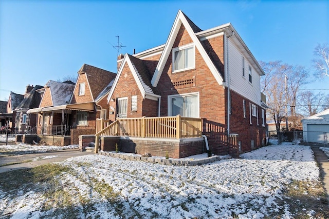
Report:
M39 107L42 93L43 86L26 86L23 101L14 109L16 112L15 134L24 134L28 131L28 127L35 127L36 114L27 113L27 111Z

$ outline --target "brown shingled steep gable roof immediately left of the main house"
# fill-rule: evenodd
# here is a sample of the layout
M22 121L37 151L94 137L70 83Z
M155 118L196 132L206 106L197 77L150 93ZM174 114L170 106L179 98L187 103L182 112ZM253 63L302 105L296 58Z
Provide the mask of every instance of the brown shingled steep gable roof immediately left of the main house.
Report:
M117 75L111 71L106 71L87 64L84 64L78 73L86 73L90 92L92 92L94 100L98 98L99 94Z

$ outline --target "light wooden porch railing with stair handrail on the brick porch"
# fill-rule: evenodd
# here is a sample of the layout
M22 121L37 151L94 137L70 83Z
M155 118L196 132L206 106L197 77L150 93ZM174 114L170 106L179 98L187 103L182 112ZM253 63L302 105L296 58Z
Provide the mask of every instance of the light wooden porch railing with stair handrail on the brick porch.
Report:
M106 120L96 121L95 153L98 152L101 136L130 136L148 138L189 138L201 137L202 119L177 116L118 118L107 125ZM104 127L100 130L98 127ZM178 130L178 131L177 131Z

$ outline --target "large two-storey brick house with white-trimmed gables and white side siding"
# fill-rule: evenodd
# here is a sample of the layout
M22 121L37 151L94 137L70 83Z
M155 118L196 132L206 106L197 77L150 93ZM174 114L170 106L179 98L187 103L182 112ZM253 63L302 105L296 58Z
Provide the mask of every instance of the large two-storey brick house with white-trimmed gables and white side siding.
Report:
M201 30L178 11L165 45L126 54L118 63L109 120L201 117L202 133L218 155L230 153L232 135L240 153L266 144L264 71L230 23Z

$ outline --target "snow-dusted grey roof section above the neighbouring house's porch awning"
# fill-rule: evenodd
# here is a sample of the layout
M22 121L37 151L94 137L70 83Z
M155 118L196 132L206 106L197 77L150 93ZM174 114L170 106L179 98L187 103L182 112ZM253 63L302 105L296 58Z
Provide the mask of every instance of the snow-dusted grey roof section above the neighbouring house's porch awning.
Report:
M75 85L49 81L45 87L50 89L53 106L61 106L69 103Z

